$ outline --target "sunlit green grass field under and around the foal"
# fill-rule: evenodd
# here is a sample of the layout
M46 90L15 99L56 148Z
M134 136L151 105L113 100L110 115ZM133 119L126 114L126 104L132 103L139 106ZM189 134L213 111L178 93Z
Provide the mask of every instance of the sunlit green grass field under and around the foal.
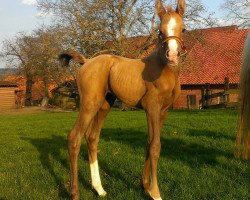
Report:
M0 114L0 199L69 199L66 137L77 113ZM250 163L234 158L237 112L170 111L161 135L163 199L250 199ZM147 126L142 111L112 111L99 144L102 182L112 200L148 199L140 178ZM82 199L91 189L85 142Z

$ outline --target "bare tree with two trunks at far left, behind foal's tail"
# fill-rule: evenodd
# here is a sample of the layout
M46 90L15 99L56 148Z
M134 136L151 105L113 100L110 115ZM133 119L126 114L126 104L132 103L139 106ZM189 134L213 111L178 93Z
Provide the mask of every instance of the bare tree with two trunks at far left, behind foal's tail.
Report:
M57 55L61 50L60 31L39 29L32 34L19 33L13 40L3 42L2 56L20 69L26 78L25 105L32 105L32 85L37 79L44 83L44 96L48 97L48 85L60 80ZM59 78L60 77L60 78Z

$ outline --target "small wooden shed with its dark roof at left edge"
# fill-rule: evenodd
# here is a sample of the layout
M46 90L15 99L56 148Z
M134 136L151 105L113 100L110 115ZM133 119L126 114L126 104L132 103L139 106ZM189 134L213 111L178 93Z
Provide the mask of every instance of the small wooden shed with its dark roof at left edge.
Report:
M17 85L8 81L0 81L0 111L16 107Z

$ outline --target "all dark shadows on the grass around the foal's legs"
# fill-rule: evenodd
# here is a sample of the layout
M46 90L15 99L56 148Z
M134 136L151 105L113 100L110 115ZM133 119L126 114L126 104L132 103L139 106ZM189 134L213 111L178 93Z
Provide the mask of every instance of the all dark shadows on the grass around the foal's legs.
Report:
M209 134L213 135L214 133L211 132L208 134L204 130L197 132L193 132L193 130L190 130L190 132L188 133L188 135L191 136L197 136L196 134L200 134L200 136L204 135L206 137L209 137ZM60 163L62 167L66 168L67 170L69 169L68 159L66 159L65 156L61 155L61 150L67 151L66 137L52 135L51 138L23 137L21 139L28 141L39 152L39 158L43 168L51 174L51 176L54 178L56 185L59 186L58 197L60 199L69 199L70 196L68 192L68 186L65 186L65 181L63 180L62 175L56 172L56 166L54 166L54 164L51 162L51 158L53 158L53 160ZM136 129L104 128L102 130L101 139L106 141L107 143L109 141L116 141L118 143L125 144L133 149L144 149L147 141L147 133ZM176 138L173 136L168 136L168 138L167 136L164 136L161 138L161 142L161 157L165 157L166 159L171 159L173 161L178 160L186 163L187 165L190 165L191 167L197 168L204 164L216 166L219 165L216 160L218 156L223 156L226 158L233 157L231 153L224 152L220 150L219 147L205 147L197 143L186 142L184 139ZM85 144L83 144L81 147L79 159L87 160L87 148ZM129 180L120 175L119 169L117 169L115 166L110 167L108 163L105 162L105 159L100 160L100 166L103 171L109 174L111 179L120 180L121 182L126 184L130 189L136 190L137 194L141 194L144 199L147 199L139 185L139 181L137 181L137 178L135 182L131 183ZM79 180L79 183L82 183L85 189L91 189L90 183L86 181L88 179L84 173L79 174Z

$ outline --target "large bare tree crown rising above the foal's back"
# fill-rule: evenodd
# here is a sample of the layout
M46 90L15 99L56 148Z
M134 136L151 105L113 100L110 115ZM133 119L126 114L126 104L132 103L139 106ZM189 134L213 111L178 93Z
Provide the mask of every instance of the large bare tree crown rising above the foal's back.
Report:
M106 50L124 55L126 38L151 38L155 30L153 0L39 0L38 7L52 12L57 24L65 27L69 48L77 47L87 56Z

